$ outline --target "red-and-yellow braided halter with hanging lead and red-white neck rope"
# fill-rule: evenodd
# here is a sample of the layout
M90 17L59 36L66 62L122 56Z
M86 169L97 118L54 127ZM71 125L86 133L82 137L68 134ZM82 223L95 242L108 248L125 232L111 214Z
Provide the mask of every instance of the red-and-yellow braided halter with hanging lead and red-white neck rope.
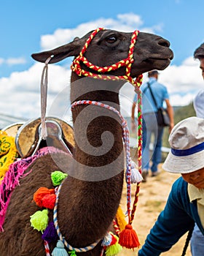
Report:
M74 59L73 63L71 64L71 69L73 72L76 73L76 75L79 76L85 76L85 77L91 77L91 78L96 78L96 79L101 79L101 80L127 80L128 82L132 83L133 86L135 86L135 91L138 94L138 171L139 173L141 173L141 154L142 154L142 113L141 113L141 90L140 90L140 86L142 83L142 78L143 75L139 75L138 78L136 78L136 80L134 80L133 78L130 77L130 70L132 67L132 64L134 62L133 59L133 50L134 50L134 46L136 44L136 39L138 37L138 33L139 31L136 30L133 32L131 41L130 41L130 49L128 52L128 56L127 59L122 59L121 61L118 61L116 64L112 64L111 66L108 67L98 67L95 64L90 63L90 61L87 60L87 58L85 58L84 53L86 52L88 46L90 45L90 42L92 41L93 37L95 37L95 35L98 33L98 31L103 30L103 28L99 28L99 29L95 29L95 31L93 31L92 34L90 34L90 37L87 39L87 42L85 43L84 47L82 48L81 52L79 53L79 56L76 57L76 59ZM90 69L93 69L93 71L95 72L100 72L100 73L105 73L105 72L111 72L112 70L116 70L119 69L120 67L126 67L125 70L125 75L119 75L119 76L114 76L114 75L101 75L101 74L97 74L94 72L88 72L84 69L82 69L81 67L81 63L85 64L87 67L89 67ZM72 108L76 107L76 105L98 105L101 106L103 108L109 108L110 110L113 110L115 113L117 113L119 115L119 117L122 119L122 123L124 123L124 119L122 118L121 114L118 113L117 110L114 110L113 108L111 108L110 106L105 106L103 103L101 102L92 102L90 100L82 100L79 102L74 102L72 104ZM123 127L124 128L124 133L123 133L123 137L125 135L126 138L125 139L128 140L128 133L127 132L127 126ZM127 215L128 215L128 219L129 219L129 224L132 224L133 222L133 218L135 215L135 211L136 211L136 206L138 203L138 192L139 192L139 188L140 188L140 182L138 182L137 184L137 188L136 188L136 195L135 195L135 200L133 203L133 209L130 213L130 197L131 197L131 193L130 193L130 160L129 160L129 147L126 146L126 156L127 157L127 169L128 169L128 178L127 178Z

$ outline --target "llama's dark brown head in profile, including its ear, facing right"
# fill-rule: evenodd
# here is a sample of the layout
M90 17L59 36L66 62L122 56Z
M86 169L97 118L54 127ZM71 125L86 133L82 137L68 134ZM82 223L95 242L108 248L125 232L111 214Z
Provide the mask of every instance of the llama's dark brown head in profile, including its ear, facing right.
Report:
M82 38L76 37L73 42L53 50L34 53L32 57L36 61L45 62L52 56L50 63L56 63L69 56L79 56L92 32L87 33ZM91 40L84 56L90 63L98 67L111 66L123 59L127 59L132 34L101 29ZM154 34L138 33L136 43L133 46L134 61L130 71L132 78L136 78L138 75L152 69L165 69L170 64L170 60L173 59L173 52L169 48L170 42ZM85 67L85 69L89 70L88 67ZM125 75L125 68L122 67L110 73L110 75Z

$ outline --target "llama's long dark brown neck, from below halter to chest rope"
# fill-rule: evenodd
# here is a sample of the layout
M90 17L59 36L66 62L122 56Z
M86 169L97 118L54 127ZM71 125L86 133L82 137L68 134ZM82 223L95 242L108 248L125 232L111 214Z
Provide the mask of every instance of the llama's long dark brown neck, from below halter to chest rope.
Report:
M119 110L117 91L73 95L71 101L91 99ZM66 179L60 192L59 204L60 200L67 200L67 204L63 203L66 208L59 207L59 225L72 246L87 246L106 235L119 206L124 168L122 127L116 113L98 106L79 105L72 113L75 161L72 177Z

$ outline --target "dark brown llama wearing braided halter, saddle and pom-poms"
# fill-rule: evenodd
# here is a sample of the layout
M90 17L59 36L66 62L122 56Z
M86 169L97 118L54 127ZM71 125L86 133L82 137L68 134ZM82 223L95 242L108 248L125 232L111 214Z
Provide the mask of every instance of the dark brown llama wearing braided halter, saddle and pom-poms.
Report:
M87 39L89 45L84 56L97 67L109 67L127 59L133 33L100 29L91 37L89 32L67 45L54 50L33 54L36 61L56 63L69 56L76 59ZM130 78L137 78L151 69L165 69L173 59L170 43L154 34L140 32L136 44L132 45L133 63ZM128 62L128 61L127 61ZM130 63L129 63L130 64ZM75 66L74 66L75 65ZM79 100L103 102L119 111L119 89L124 79L85 78L85 72L112 78L126 74L126 67L102 72L79 61L72 65L71 103ZM124 155L122 127L119 117L97 105L75 105L72 108L75 147L73 157L58 151L38 157L20 180L20 186L12 192L4 221L4 232L0 233L1 256L43 256L42 234L31 227L30 216L39 210L33 201L39 187L52 188L50 174L63 170L68 177L63 181L58 198L58 226L68 244L76 248L101 241L111 227L117 213L124 180ZM87 124L88 122L88 124ZM50 212L52 218L52 212ZM50 251L56 243L50 244ZM101 242L76 255L101 255Z

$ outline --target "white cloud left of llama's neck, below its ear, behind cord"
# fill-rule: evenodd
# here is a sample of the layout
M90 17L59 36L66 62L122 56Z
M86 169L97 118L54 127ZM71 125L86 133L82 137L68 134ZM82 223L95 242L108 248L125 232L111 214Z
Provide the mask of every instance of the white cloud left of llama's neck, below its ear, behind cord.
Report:
M37 63L23 72L13 72L1 78L1 113L34 118L40 116L40 81L44 65ZM49 65L47 111L57 94L68 86L71 71L58 65ZM69 94L67 95L69 99Z

